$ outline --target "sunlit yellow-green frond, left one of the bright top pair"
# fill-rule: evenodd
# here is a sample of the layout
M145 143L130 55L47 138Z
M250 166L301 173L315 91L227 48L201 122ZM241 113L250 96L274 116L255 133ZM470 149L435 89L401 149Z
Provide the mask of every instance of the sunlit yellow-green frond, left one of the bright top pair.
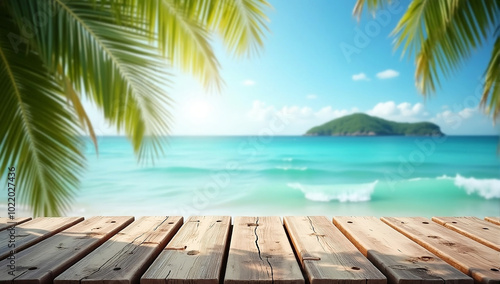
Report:
M210 44L210 34L196 18L189 17L183 1L123 2L120 14L136 19L133 24L147 31L150 44L157 45L173 66L192 73L207 89L220 89L223 80Z

